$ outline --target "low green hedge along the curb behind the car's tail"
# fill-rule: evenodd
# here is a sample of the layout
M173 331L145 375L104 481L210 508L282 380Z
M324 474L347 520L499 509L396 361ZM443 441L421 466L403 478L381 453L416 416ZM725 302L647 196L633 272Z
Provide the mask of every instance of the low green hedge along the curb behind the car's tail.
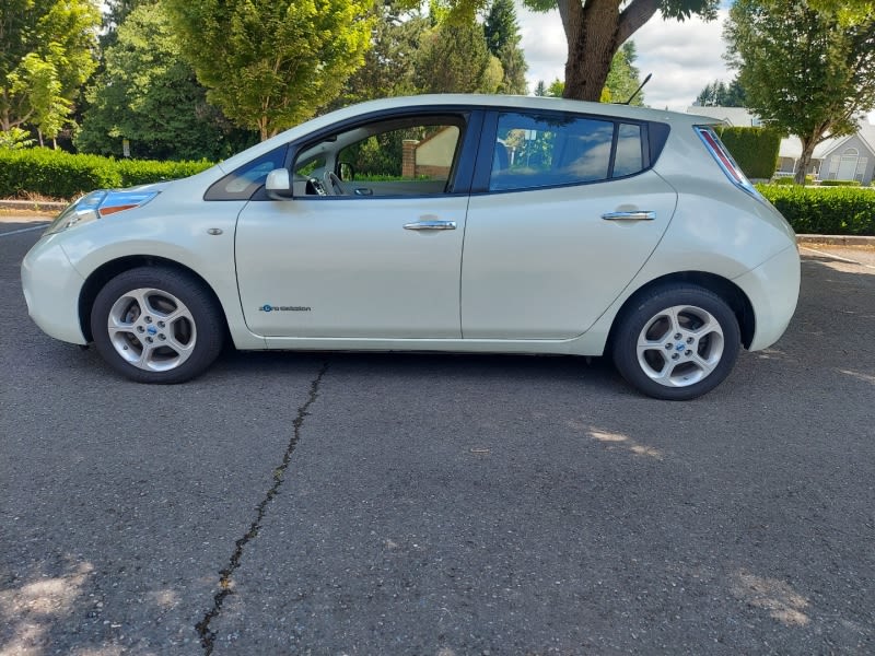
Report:
M797 233L875 236L875 189L757 185Z

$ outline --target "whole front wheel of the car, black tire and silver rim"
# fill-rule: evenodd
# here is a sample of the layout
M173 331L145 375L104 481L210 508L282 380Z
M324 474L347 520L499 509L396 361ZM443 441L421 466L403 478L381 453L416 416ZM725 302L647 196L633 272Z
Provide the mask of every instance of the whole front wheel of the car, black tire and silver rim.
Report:
M97 352L122 376L167 385L202 374L222 350L225 327L200 281L170 268L141 267L100 291L91 331Z

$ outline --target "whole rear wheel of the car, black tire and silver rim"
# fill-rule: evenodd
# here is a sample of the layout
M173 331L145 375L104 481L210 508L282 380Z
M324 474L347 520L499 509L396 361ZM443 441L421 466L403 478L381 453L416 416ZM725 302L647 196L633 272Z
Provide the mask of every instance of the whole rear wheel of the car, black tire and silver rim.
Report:
M623 308L611 354L622 377L639 391L685 401L720 385L740 347L738 319L723 298L675 283L650 290Z

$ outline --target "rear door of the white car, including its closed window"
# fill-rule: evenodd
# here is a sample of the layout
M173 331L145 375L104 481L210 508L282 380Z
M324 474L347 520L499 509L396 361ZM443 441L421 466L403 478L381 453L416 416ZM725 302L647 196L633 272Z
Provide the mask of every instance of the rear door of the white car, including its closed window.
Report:
M595 323L672 220L677 195L650 171L658 137L627 119L490 114L465 235L465 339L570 339Z

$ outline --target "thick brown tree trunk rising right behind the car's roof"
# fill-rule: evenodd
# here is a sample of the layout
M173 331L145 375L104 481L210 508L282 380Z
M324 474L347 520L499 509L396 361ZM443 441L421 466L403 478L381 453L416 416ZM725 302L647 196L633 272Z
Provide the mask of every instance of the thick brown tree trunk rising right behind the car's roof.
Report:
M563 97L598 102L614 55L660 8L660 0L558 0L568 42ZM622 102L626 98L617 98Z

